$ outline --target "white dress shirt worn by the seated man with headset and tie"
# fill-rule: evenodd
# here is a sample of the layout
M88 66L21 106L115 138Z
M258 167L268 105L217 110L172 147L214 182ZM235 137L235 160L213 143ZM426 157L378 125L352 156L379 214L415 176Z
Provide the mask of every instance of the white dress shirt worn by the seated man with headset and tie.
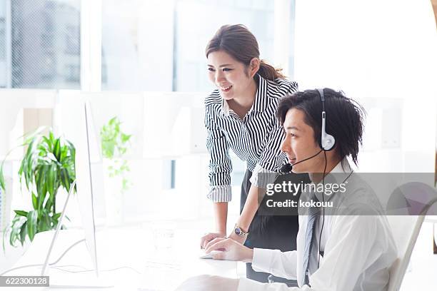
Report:
M343 166L342 166L343 165ZM320 266L309 274L308 285L302 286L303 250L308 216L299 215L299 230L296 238L297 250L253 249L253 270L268 272L277 277L298 280L301 287L287 287L281 283L260 283L241 278L238 291L292 291L292 290L387 290L389 270L396 260L396 244L386 216L370 186L358 173L351 173L346 159L338 163L331 173L344 175L348 180L346 193L332 194L330 200L341 205L341 215L324 215L321 236ZM343 173L343 174L342 174ZM338 177L337 174L333 174ZM342 180L342 179L341 179ZM341 183L339 181L338 183ZM305 200L308 193L302 193ZM321 199L319 199L321 200ZM356 215L356 213L375 215ZM301 212L299 212L301 213ZM316 224L316 241L321 232L321 221Z

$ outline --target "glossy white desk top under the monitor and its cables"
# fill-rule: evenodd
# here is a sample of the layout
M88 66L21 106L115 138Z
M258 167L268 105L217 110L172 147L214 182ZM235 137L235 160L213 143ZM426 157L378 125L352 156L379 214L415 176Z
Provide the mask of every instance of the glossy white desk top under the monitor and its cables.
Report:
M14 267L42 264L51 238L53 232L36 235L29 250ZM66 248L81 238L84 238L81 230L59 233L49 261L54 262ZM109 277L106 282L114 284L113 288L104 290L174 290L174 287L194 275L237 277L236 262L199 259L200 234L195 230L160 230L159 225L154 230L141 226L106 228L96 233L96 241L101 277ZM74 271L93 267L85 242L69 250L56 265L76 265L63 267ZM104 271L117 267L131 267L140 274L129 268ZM29 267L6 275L40 275L40 272L41 267ZM50 268L49 276L51 285L75 285L89 281L90 277L94 277L94 272L71 273ZM20 288L11 287L10 290Z

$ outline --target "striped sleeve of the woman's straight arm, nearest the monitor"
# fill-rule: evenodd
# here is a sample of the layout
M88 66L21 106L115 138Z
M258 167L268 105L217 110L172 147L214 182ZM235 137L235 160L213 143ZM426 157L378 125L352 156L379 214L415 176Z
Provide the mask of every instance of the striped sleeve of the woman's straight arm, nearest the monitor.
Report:
M223 131L214 121L210 106L205 110L206 148L209 153L209 193L213 202L228 202L232 199L229 144Z

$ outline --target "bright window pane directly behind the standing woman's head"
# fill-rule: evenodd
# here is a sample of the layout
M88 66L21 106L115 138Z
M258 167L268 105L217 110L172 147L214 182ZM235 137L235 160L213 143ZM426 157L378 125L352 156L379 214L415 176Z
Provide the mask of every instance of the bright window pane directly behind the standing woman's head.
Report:
M274 1L176 1L175 91L211 91L205 47L223 24L244 24L256 36L261 58L273 61Z

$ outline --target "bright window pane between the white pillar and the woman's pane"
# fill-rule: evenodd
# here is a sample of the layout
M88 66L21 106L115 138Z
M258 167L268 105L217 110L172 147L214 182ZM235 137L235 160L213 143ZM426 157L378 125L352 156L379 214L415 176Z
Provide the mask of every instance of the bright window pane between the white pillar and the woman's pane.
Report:
M172 91L173 0L102 4L102 90Z

